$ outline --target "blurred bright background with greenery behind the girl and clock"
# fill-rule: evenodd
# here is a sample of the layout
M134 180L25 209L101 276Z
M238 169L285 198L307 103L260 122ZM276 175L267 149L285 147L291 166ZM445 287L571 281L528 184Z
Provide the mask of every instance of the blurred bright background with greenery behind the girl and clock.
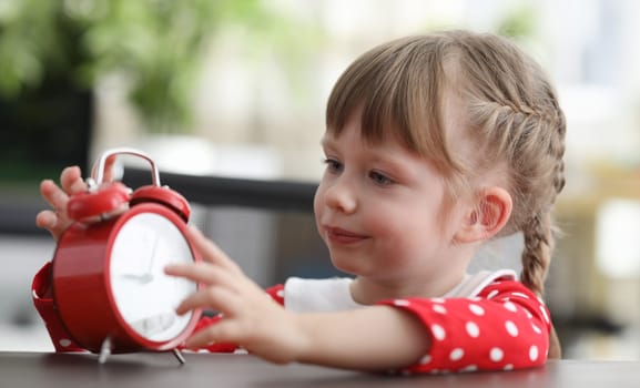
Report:
M556 82L567 187L546 297L565 357L639 358L633 0L0 0L0 351L52 349L30 297L54 251L33 225L42 178L132 146L161 172L314 184L324 104L345 67L447 28L509 35ZM334 274L305 212L194 210L261 285ZM496 242L478 262L517 268L519 244Z

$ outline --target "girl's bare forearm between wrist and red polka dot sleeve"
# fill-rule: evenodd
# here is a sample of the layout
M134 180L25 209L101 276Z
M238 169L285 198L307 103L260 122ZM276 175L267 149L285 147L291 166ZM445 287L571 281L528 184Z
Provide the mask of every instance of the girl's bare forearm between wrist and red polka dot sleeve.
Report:
M409 313L372 306L297 316L304 338L299 363L357 370L388 370L415 364L429 335Z

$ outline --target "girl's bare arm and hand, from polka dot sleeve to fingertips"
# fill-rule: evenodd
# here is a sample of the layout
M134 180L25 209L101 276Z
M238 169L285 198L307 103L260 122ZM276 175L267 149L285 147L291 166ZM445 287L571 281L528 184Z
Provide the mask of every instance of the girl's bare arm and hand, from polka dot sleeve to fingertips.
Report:
M185 299L177 313L212 308L221 312L223 319L195 333L186 341L187 348L233 343L278 364L386 370L416 363L429 346L420 321L389 306L338 313L288 312L200 232L192 229L190 237L206 262L165 270L205 287Z

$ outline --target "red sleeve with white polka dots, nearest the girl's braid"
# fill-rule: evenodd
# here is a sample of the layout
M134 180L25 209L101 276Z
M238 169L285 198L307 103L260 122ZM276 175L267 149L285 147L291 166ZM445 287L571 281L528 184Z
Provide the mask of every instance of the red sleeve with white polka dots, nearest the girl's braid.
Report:
M402 372L510 370L545 364L551 324L545 305L521 283L495 282L475 298L385 300L425 325L431 347Z

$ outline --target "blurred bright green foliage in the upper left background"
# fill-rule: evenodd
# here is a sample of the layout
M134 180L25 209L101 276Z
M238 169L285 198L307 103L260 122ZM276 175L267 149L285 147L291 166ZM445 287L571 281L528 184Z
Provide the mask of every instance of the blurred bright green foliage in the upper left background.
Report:
M19 99L52 72L87 90L119 73L150 131L184 130L215 33L234 24L295 38L282 32L284 21L260 0L0 1L0 96Z

